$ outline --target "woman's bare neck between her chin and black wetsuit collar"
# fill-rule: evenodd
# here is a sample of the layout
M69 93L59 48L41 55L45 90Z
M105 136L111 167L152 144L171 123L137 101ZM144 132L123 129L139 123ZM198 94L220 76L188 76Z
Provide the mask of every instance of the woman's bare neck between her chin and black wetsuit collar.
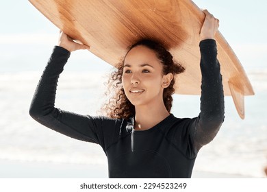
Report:
M153 106L135 106L136 122L134 129L148 130L168 117L170 113L166 110L163 101L160 103Z

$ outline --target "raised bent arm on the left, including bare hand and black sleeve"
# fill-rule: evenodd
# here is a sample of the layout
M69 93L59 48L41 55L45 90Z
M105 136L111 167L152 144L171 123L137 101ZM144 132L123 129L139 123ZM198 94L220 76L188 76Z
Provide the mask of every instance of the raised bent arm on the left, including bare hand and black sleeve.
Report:
M66 112L54 106L58 78L71 55L70 51L88 48L85 45L75 43L62 32L58 45L60 46L55 46L53 49L47 67L40 78L31 101L29 114L36 121L52 130L82 141L99 143L97 123L92 117Z

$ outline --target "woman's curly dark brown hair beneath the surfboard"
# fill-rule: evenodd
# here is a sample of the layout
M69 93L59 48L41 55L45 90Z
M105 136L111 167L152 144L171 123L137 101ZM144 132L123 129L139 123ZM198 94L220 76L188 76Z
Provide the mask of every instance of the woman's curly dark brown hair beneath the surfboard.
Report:
M163 75L173 73L173 80L170 82L170 85L167 88L164 88L163 92L164 105L168 112L170 112L170 109L173 106L172 95L175 93L175 88L173 88L175 84L175 75L182 73L185 71L185 69L181 66L181 64L175 62L170 52L155 40L139 40L137 43L129 47L127 53L129 53L133 47L140 45L155 51L157 58L160 60L163 66ZM127 53L125 57L127 56ZM131 104L129 99L127 99L122 84L125 57L116 65L116 70L112 72L110 79L107 82L106 95L109 96L109 99L102 108L107 117L129 119L129 117L134 117L136 114L135 107L133 104Z

